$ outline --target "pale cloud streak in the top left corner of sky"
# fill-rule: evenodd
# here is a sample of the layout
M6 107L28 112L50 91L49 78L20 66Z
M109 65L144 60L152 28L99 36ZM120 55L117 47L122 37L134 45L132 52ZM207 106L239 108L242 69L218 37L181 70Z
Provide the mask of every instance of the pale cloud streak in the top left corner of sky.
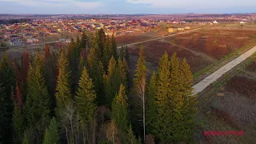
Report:
M0 2L13 2L22 6L76 7L82 9L95 9L103 6L102 2L81 2L77 0L0 0Z

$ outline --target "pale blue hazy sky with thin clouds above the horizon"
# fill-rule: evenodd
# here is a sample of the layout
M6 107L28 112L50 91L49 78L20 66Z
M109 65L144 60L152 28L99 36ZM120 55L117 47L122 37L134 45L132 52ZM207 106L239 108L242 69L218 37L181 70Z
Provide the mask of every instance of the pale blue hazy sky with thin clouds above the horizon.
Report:
M0 14L256 13L256 0L0 0Z

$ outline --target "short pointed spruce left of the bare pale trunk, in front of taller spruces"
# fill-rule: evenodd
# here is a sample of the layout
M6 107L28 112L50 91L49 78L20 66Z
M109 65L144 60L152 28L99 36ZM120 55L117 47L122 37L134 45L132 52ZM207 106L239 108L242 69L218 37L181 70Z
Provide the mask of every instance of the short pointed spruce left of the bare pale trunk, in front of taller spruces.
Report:
M120 85L118 95L115 96L112 102L112 118L117 124L118 128L122 131L128 128L128 104L125 86Z

